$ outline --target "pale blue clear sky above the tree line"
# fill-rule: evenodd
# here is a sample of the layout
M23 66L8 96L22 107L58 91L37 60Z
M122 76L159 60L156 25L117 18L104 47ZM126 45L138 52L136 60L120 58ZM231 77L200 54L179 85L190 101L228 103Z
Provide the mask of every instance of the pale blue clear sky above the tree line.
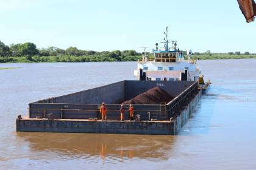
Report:
M181 50L256 53L256 21L235 0L0 0L0 16L7 45L151 51L168 26Z

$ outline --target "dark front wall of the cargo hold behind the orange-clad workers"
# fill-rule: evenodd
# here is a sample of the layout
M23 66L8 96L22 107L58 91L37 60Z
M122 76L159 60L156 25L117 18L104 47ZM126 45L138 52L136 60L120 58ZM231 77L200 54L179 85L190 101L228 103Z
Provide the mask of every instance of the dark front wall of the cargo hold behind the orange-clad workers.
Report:
M140 114L143 120L151 120L152 115L157 115L157 120L167 120L161 114L161 104L133 104L135 114ZM75 104L75 103L30 103L29 118L48 118L52 114L57 119L101 119L101 104ZM126 107L126 120L129 119L129 104ZM107 104L108 119L118 120L120 104Z

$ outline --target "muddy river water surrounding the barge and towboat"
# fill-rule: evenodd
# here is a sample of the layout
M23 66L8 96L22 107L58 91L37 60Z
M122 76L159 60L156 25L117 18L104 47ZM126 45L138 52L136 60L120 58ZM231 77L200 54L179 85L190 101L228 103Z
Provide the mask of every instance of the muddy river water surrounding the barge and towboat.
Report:
M0 169L256 169L256 60L199 61L212 86L179 135L16 132L28 103L121 80L136 62L0 64Z

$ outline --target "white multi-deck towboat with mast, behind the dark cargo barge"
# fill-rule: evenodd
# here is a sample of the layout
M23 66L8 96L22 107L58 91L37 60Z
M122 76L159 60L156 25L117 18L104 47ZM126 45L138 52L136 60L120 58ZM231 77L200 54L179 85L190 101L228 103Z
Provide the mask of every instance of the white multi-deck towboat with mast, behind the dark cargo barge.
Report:
M163 50L159 49L158 43L153 50L154 57L148 58L144 52L142 60L138 61L134 75L138 80L188 80L198 81L201 70L196 66L196 60L190 57L185 60L183 53L177 49L177 41L168 41L168 28L166 27L166 39L164 38ZM168 44L172 43L169 47Z

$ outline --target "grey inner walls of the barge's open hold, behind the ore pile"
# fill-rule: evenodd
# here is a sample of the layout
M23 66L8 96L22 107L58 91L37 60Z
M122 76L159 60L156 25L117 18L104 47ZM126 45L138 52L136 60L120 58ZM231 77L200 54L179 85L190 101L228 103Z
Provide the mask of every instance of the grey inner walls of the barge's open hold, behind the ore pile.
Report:
M153 87L161 87L172 97L176 97L187 89L194 81L138 81L124 80L74 94L48 98L34 103L74 103L74 104L120 104L130 100Z

